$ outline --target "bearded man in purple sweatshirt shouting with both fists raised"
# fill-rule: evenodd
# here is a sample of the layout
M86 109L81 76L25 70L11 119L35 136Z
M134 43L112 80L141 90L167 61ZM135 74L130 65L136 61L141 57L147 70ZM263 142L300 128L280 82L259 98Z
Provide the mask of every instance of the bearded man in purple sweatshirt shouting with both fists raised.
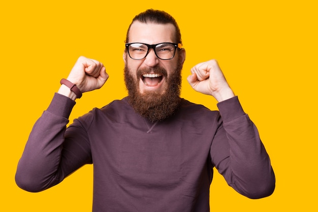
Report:
M195 65L187 80L219 111L180 98L185 50L173 17L137 15L123 59L128 97L66 128L75 99L108 79L101 62L78 59L30 133L19 187L42 191L93 163L93 211L209 211L213 167L242 195L272 194L275 176L258 130L215 60Z

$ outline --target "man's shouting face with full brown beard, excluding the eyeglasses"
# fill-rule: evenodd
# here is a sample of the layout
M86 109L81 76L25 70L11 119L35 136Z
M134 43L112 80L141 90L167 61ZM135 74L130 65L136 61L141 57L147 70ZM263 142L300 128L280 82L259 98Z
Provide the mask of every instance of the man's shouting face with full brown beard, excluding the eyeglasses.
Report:
M175 28L172 24L134 22L127 43L176 43ZM153 49L141 60L130 58L125 61L125 84L132 107L137 113L151 121L171 116L180 102L181 69L185 51L176 50L174 58L159 59Z

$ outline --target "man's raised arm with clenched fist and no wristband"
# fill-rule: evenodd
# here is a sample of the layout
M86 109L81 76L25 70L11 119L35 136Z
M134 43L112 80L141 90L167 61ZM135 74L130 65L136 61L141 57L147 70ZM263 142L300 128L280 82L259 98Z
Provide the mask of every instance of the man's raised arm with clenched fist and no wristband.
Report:
M220 119L210 149L212 164L240 194L249 198L269 196L275 188L269 156L217 62L200 63L191 72L189 84L218 101Z

